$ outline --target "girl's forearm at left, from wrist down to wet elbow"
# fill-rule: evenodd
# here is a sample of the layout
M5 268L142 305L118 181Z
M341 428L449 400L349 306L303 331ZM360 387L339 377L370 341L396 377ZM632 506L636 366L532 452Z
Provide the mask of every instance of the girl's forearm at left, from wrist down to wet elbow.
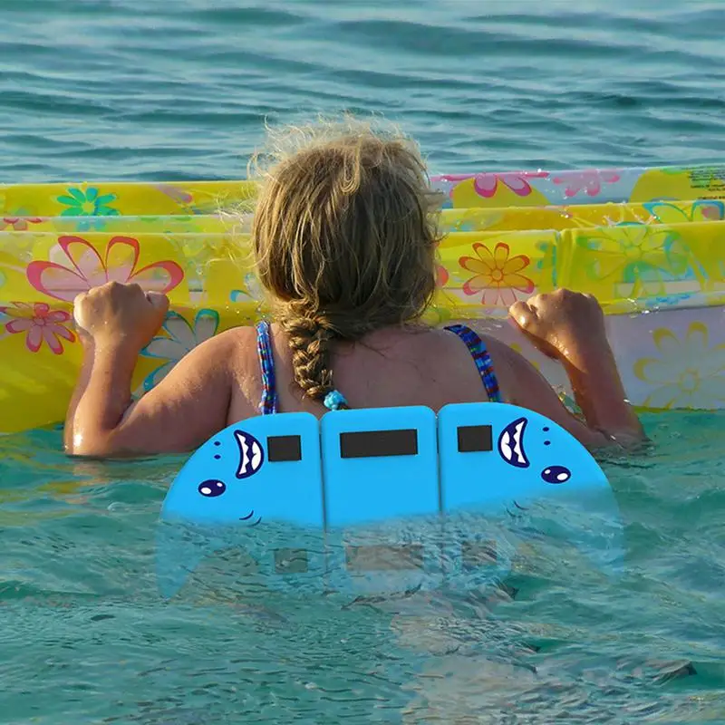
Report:
M131 405L131 378L138 353L122 343L84 344L82 371L65 419L65 449L102 455Z

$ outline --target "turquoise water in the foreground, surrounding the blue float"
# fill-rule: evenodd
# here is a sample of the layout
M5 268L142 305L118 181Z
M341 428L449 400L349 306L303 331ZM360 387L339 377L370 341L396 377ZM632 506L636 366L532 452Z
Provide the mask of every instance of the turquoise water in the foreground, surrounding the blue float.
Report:
M72 462L57 430L0 438L0 718L722 722L725 416L644 421L655 448L605 464L618 585L545 543L498 604L240 597L220 557L164 604L155 522L179 460Z

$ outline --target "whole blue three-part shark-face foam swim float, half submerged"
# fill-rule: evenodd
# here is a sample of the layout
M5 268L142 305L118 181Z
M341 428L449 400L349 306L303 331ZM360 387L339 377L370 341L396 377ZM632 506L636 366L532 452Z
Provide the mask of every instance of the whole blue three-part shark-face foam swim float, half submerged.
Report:
M213 436L171 484L160 588L175 594L210 552L241 546L256 562L245 576L285 592L469 589L510 570L507 512L594 498L610 526L576 543L612 571L623 527L604 471L534 411L486 402L438 415L415 406L258 416Z

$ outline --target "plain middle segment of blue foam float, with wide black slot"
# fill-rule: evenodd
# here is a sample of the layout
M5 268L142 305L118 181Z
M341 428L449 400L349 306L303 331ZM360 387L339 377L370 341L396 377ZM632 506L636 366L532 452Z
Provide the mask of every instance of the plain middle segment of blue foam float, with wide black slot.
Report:
M321 434L332 588L386 594L440 586L435 413L332 411Z

